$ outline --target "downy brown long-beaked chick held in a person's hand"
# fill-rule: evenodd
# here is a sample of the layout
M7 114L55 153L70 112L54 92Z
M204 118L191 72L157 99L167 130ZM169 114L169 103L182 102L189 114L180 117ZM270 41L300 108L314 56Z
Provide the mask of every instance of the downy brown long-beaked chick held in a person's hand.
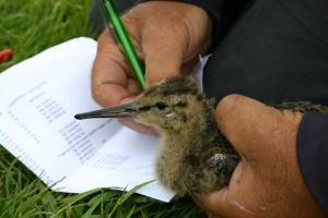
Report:
M328 113L328 107L309 101L285 101L274 106L305 112ZM136 102L77 114L77 119L136 116L155 128L161 145L155 161L159 181L184 196L226 186L241 160L218 130L214 99L208 99L189 76L167 78L137 97Z

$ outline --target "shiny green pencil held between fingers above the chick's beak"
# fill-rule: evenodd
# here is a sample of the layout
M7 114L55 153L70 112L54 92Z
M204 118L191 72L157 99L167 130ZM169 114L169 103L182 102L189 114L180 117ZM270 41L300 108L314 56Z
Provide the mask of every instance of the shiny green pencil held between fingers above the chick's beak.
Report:
M130 61L130 64L134 71L134 74L137 76L137 80L140 84L140 87L144 90L145 88L145 82L144 82L144 75L143 75L143 68L140 64L139 58L137 56L137 52L133 48L133 45L129 38L129 35L120 20L119 14L117 13L117 10L112 2L112 0L103 0L105 11L108 15L109 22L113 25L113 28L116 34L116 39L122 47L122 50L125 55L127 56L128 60ZM112 32L110 32L112 33Z

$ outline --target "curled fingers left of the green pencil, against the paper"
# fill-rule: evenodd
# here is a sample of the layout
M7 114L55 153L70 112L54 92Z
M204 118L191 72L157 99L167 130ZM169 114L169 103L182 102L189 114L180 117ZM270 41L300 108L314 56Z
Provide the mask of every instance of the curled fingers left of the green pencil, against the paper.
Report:
M124 53L105 31L98 38L97 56L92 69L92 94L103 107L118 105L140 93Z

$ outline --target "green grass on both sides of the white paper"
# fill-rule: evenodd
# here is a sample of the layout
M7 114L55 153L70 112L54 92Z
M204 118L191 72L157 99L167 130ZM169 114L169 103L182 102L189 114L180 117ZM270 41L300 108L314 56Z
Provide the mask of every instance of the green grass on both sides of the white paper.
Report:
M14 58L0 72L68 39L94 37L91 0L0 0L0 50ZM1 92L1 87L0 87ZM172 203L109 189L52 192L0 145L0 217L204 217L188 197Z

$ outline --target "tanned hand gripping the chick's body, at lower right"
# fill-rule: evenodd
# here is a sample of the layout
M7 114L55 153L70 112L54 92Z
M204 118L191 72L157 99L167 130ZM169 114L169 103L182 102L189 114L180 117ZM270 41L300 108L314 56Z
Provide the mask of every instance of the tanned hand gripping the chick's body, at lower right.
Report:
M219 129L242 156L227 187L194 199L213 217L325 217L296 158L301 112L230 95L215 110Z

